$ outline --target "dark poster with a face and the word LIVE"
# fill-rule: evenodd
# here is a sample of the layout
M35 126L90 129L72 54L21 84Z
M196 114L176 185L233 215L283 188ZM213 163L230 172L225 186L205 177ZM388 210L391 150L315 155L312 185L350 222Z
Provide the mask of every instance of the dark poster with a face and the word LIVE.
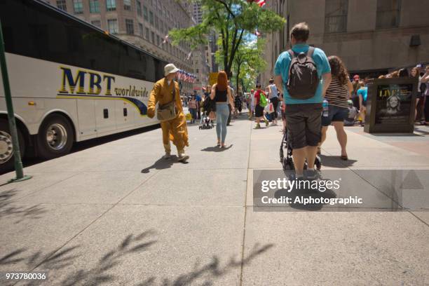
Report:
M376 95L376 125L409 124L412 84L379 85Z

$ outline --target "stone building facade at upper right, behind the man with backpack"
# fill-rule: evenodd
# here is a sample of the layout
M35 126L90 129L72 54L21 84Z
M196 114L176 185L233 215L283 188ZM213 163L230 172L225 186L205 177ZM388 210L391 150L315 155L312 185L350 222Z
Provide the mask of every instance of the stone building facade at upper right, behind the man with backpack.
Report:
M338 55L353 74L387 73L429 62L429 0L273 0L267 7L288 20L268 35L265 83L278 55L290 48L289 31L298 22L311 29L308 43Z

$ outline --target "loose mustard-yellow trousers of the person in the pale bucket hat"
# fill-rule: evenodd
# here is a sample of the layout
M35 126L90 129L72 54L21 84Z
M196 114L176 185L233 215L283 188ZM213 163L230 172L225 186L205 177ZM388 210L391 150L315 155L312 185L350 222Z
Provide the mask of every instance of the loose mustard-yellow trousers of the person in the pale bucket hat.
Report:
M183 153L184 147L189 146L186 117L179 112L175 119L161 122L163 130L163 145L166 152L170 152L170 140L175 144L177 152Z

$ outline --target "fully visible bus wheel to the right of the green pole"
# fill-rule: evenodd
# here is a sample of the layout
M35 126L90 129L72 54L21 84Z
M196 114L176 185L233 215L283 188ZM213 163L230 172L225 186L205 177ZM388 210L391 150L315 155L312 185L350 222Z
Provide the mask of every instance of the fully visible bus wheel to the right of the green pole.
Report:
M73 130L67 118L60 114L48 116L37 135L39 156L51 159L68 154L73 145Z

